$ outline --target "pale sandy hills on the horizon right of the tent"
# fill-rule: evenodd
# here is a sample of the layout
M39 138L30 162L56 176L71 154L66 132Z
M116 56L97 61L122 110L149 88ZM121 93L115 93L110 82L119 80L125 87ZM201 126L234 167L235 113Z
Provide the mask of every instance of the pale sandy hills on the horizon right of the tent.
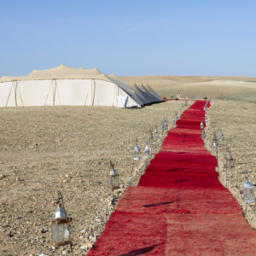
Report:
M121 77L137 84L149 84L160 96L204 96L212 99L256 102L256 78L207 76Z

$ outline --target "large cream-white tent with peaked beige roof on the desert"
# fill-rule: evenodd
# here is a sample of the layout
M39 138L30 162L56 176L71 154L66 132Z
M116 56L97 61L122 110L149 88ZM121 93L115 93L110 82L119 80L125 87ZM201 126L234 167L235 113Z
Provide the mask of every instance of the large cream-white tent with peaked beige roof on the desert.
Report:
M59 67L34 70L26 76L0 79L0 107L113 106L140 107L160 102L144 86L104 75L98 69Z

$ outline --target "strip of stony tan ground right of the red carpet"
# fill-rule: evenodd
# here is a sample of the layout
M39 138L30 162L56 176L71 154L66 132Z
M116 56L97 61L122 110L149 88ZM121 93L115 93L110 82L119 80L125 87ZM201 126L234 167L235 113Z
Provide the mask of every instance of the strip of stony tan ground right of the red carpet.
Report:
M218 141L219 180L230 189L244 210L248 223L256 229L255 204L247 204L246 207L242 197L245 176L254 188L256 186L256 103L220 100L214 100L211 103L212 107L208 111L210 125L207 127L207 149L213 154L213 133L216 132L219 136L219 129L221 129L224 133L224 141ZM226 148L230 148L235 160L235 168L228 172L225 167Z

